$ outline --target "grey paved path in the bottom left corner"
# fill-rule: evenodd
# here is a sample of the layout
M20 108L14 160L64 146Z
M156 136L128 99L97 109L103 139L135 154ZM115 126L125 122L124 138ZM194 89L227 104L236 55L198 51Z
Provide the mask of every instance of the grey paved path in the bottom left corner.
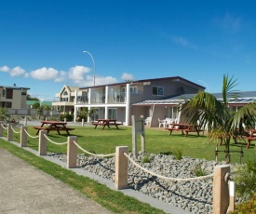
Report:
M1 214L111 213L2 148L0 157Z

